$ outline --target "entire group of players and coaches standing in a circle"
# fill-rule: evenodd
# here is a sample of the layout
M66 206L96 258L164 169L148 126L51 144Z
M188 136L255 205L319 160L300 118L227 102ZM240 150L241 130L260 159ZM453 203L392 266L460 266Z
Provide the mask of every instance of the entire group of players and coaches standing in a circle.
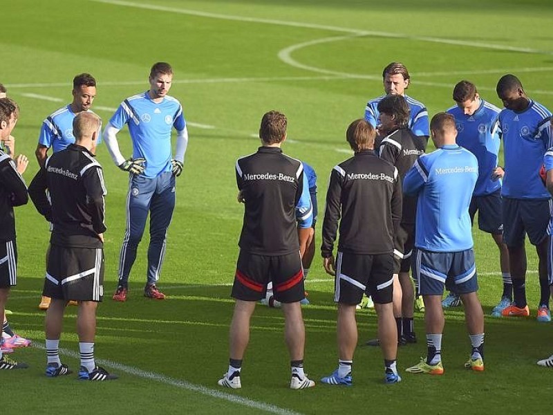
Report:
M95 312L103 295L106 230L106 189L102 167L94 158L102 136L115 164L129 172L127 226L113 300L126 300L129 273L148 214L151 241L144 295L165 298L156 282L175 205L175 179L182 172L188 142L180 102L167 95L172 77L169 64L154 64L149 90L124 100L102 134L100 118L90 111L95 80L89 74L77 75L73 102L44 121L36 152L41 169L28 194L39 213L52 223L44 283L44 295L53 299L46 312L46 376L71 374L59 358L59 338L64 309L69 300L76 300L79 378L116 378L95 364L93 353ZM424 299L427 358L406 371L444 373L442 307L457 306L460 301L465 306L471 343L464 365L484 371L484 315L476 295L471 237L477 211L479 228L492 235L500 251L503 293L492 315L529 315L525 297L528 234L539 259L541 299L536 318L538 322L551 320L552 113L527 97L516 76L505 75L496 86L505 109L486 102L473 83L463 80L453 89L456 105L429 122L424 105L405 94L410 76L403 64L389 64L382 77L386 95L369 101L365 117L349 125L346 141L354 156L332 169L328 184L321 255L324 269L335 276L339 349L337 369L321 378L328 385L353 382L355 309L363 295L371 296L377 311L378 338L370 343L382 348L386 383L401 380L398 344L417 342L413 304L418 295ZM11 136L18 116L17 104L0 98L0 139L6 149L0 151L0 213L3 217L11 213L11 218L13 207L27 201L21 174L28 160L15 158ZM133 141L131 158L122 156L116 138L125 125ZM173 127L177 131L175 156L171 150ZM241 387L250 317L256 302L268 299L268 284L272 285L271 301L279 302L285 315L290 387L315 386L303 371L301 312L301 302L306 302L303 279L314 252L315 174L305 163L282 153L286 127L282 113L265 113L259 130L261 147L236 162L238 201L244 203L245 214L232 288L236 305L230 326L229 367L218 381L223 387ZM436 150L425 154L429 137ZM498 165L501 140L505 167ZM49 148L53 154L47 157ZM15 221L6 222L2 229L3 313L9 288L16 282ZM450 293L442 300L444 288ZM4 320L3 332L10 329ZM10 333L3 333L3 338L16 341L11 329ZM7 349L4 341L3 350ZM553 356L538 365L552 367ZM24 367L0 351L0 369Z

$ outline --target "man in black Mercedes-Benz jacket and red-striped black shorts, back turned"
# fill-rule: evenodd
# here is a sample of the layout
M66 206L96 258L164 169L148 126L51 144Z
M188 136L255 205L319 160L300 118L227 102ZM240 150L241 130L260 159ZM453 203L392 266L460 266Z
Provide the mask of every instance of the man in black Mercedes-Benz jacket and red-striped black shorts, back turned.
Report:
M232 286L236 303L229 328L229 367L218 380L223 387L242 387L242 360L250 339L250 317L256 302L265 297L270 281L284 313L284 335L292 371L290 388L315 386L303 372L306 333L299 304L304 295L301 255L312 237L312 208L308 189L303 185L303 165L285 156L281 149L286 127L283 113L265 113L259 128L261 147L236 161L236 183L245 210Z

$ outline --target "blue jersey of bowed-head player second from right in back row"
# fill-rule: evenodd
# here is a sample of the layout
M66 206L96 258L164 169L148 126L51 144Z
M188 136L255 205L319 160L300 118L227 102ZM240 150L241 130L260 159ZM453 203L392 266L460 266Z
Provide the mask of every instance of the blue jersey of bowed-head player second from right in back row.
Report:
M474 196L484 196L497 192L501 181L491 175L498 165L500 131L494 129L500 109L485 100L480 100L480 107L471 116L463 113L458 106L447 110L457 126L457 144L469 150L478 159L478 181Z

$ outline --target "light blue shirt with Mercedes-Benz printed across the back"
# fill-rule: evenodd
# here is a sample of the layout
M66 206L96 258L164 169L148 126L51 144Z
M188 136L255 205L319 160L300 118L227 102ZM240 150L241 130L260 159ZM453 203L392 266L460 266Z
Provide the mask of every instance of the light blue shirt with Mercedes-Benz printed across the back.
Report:
M477 179L476 156L458 145L446 145L415 161L403 191L418 196L417 248L433 252L472 248L469 205Z

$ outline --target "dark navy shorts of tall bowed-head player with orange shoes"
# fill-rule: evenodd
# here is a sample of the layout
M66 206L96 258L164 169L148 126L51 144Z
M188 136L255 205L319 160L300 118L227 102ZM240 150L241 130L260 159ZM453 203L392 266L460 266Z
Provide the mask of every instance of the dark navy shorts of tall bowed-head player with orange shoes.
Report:
M538 245L547 237L551 209L551 199L503 198L503 241L522 246L528 234L532 245Z

